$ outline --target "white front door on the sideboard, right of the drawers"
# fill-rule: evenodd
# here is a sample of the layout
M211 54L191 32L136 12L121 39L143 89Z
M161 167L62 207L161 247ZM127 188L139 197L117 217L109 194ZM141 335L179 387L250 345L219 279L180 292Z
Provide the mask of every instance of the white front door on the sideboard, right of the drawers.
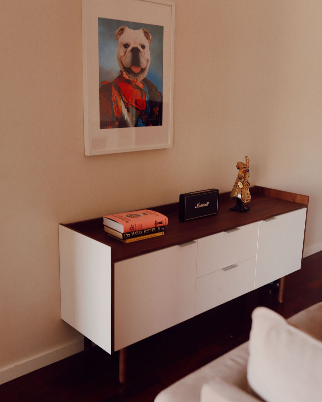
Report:
M306 208L260 221L255 286L301 268Z

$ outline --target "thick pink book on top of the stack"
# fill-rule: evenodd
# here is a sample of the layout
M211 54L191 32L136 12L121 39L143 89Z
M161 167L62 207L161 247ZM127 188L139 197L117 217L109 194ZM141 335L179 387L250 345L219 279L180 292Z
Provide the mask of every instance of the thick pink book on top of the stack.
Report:
M139 211L105 215L103 216L103 224L120 233L127 233L134 230L165 226L168 224L168 218L151 209L140 209Z

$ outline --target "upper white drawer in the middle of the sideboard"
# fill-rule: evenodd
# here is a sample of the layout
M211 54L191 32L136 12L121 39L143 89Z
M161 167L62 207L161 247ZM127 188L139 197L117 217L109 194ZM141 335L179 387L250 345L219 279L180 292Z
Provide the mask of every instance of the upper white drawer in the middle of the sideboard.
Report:
M256 256L258 222L198 240L196 277Z

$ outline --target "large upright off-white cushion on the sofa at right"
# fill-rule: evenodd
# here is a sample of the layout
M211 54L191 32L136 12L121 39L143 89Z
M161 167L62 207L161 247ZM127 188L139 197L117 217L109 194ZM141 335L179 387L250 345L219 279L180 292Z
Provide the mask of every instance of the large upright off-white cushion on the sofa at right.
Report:
M321 402L322 342L258 307L252 314L247 379L267 402Z

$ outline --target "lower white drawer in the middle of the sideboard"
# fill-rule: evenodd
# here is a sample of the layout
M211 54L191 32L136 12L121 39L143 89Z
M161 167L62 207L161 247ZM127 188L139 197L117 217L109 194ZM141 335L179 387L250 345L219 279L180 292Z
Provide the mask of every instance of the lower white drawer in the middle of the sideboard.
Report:
M194 315L254 289L256 257L196 279Z

